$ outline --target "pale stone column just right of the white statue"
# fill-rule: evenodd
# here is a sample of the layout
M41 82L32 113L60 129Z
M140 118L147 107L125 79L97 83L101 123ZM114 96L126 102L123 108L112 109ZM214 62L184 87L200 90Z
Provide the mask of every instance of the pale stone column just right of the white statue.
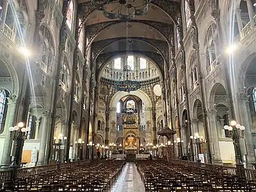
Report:
M46 144L47 144L47 134L48 134L48 130L49 130L50 113L49 113L49 111L45 110L43 115L44 115L43 116L43 127L42 127L42 132L41 132L38 163L37 163L38 166L45 164L45 148L46 148Z

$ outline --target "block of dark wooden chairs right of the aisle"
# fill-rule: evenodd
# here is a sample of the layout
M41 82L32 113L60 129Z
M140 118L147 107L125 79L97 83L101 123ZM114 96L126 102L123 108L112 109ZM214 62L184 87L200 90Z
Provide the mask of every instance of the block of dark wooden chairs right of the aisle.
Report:
M146 191L253 191L256 181L163 161L136 161Z

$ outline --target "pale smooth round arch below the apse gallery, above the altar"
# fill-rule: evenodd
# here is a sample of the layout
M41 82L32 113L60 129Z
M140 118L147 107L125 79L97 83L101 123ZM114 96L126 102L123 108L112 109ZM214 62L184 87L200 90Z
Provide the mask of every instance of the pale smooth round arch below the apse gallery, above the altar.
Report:
M152 102L151 102L150 98L148 97L147 93L143 92L142 90L136 90L135 92L131 92L130 95L135 95L135 96L139 97L143 101L146 108L152 108ZM113 97L111 98L111 100L109 102L109 107L116 108L116 104L118 103L118 101L125 96L127 96L127 92L115 93L115 95L113 95Z

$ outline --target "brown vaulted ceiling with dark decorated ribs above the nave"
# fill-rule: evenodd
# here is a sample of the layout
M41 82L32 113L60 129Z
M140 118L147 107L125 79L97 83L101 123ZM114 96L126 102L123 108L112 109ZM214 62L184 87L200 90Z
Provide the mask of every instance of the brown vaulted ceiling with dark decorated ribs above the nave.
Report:
M98 0L94 1L99 3ZM120 1L122 0L115 2L120 3ZM158 65L159 74L163 75L164 61L169 63L170 47L174 47L175 26L180 29L180 33L182 31L180 0L152 0L148 12L145 15L136 15L132 20L108 19L101 10L95 9L93 1L77 0L77 2L78 14L88 38L86 46L88 48L92 45L92 60L95 63L96 75L108 60L117 54L124 55L127 47L131 53L143 54L154 61ZM143 0L126 0L126 2L145 3ZM111 3L108 4L108 8L115 10ZM115 12L118 12L118 9ZM148 95L152 95L152 86L155 83L143 85L143 90ZM152 99L157 100L153 96Z

